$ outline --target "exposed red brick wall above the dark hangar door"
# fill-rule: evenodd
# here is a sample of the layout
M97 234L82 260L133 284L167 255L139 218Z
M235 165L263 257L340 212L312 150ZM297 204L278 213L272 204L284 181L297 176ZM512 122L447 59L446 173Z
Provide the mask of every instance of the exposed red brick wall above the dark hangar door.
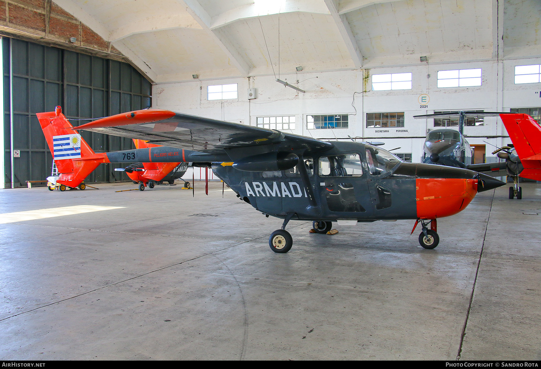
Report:
M0 1L0 31L48 41L60 47L80 48L77 51L90 49L122 57L109 42L51 0ZM77 38L75 44L70 42L70 37Z

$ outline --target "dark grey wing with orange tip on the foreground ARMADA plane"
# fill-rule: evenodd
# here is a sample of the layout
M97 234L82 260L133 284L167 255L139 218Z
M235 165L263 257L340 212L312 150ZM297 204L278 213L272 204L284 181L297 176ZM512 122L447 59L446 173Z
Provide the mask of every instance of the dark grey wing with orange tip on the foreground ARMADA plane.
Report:
M158 109L117 114L83 124L74 129L128 137L161 146L189 149L208 154L223 154L226 149L269 144L275 145L273 151L305 148L308 152L317 152L334 147L330 142L283 133L278 130Z

